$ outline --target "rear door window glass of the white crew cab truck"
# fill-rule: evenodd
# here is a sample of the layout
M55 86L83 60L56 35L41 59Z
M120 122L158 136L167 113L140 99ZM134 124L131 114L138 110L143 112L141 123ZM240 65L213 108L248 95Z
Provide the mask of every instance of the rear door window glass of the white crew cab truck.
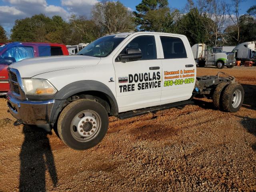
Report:
M186 49L180 38L160 36L160 39L165 59L187 58Z

